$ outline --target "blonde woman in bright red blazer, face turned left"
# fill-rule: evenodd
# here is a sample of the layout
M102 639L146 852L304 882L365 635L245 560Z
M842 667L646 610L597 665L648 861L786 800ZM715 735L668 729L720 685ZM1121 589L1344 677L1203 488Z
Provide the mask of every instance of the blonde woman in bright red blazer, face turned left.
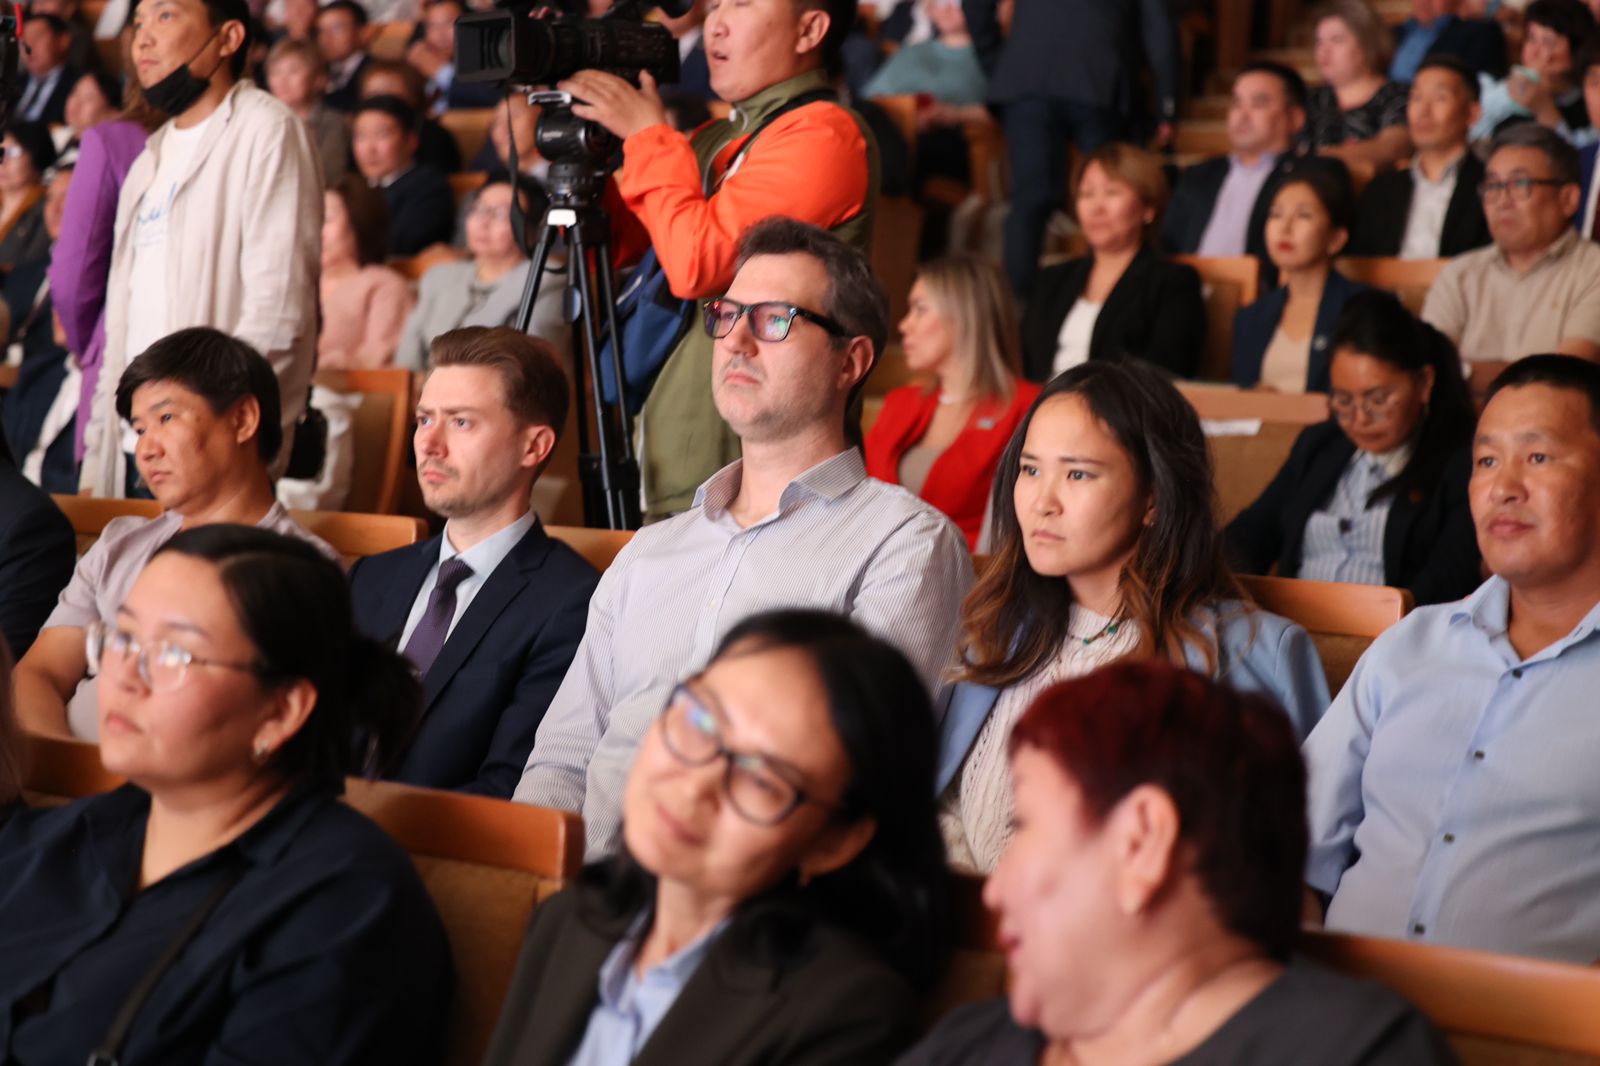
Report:
M974 256L925 264L899 323L906 365L867 432L867 474L942 511L978 547L995 464L1038 386L1022 381L1005 275Z

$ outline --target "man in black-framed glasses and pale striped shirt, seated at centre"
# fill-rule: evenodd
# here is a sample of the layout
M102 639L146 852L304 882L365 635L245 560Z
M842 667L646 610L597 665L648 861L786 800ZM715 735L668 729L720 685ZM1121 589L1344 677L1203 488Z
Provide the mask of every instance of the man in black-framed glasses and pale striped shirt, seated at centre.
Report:
M674 685L739 621L813 607L854 618L938 685L973 581L966 539L867 477L846 410L883 351L888 301L867 258L814 226L758 222L707 303L710 392L742 459L646 525L589 603L578 658L539 725L523 804L581 812L590 860L621 842L638 741Z

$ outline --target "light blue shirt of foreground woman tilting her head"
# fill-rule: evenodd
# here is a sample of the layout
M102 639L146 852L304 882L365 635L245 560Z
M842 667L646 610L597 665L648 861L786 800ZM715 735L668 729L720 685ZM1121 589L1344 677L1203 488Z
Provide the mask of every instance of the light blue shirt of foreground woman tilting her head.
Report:
M717 928L640 975L634 959L638 957L648 920L648 912L640 916L600 964L600 1002L589 1015L584 1040L568 1066L627 1066L638 1058L650 1034L672 1010L683 986L728 925L726 920L718 922Z

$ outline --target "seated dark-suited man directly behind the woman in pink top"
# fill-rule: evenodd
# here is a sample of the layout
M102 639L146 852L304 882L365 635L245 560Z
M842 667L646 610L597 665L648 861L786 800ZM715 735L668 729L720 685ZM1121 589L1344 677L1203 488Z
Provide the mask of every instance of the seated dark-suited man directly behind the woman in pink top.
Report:
M421 115L398 96L373 96L355 109L350 149L366 184L389 205L389 254L414 256L448 243L456 226L450 179L416 162Z

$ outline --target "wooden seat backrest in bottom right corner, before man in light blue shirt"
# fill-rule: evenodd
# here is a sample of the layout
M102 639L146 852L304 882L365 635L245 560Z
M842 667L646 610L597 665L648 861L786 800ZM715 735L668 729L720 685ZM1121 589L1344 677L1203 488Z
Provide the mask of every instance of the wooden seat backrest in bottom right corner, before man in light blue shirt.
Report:
M1595 967L1325 932L1304 933L1301 949L1400 992L1469 1066L1600 1061Z

